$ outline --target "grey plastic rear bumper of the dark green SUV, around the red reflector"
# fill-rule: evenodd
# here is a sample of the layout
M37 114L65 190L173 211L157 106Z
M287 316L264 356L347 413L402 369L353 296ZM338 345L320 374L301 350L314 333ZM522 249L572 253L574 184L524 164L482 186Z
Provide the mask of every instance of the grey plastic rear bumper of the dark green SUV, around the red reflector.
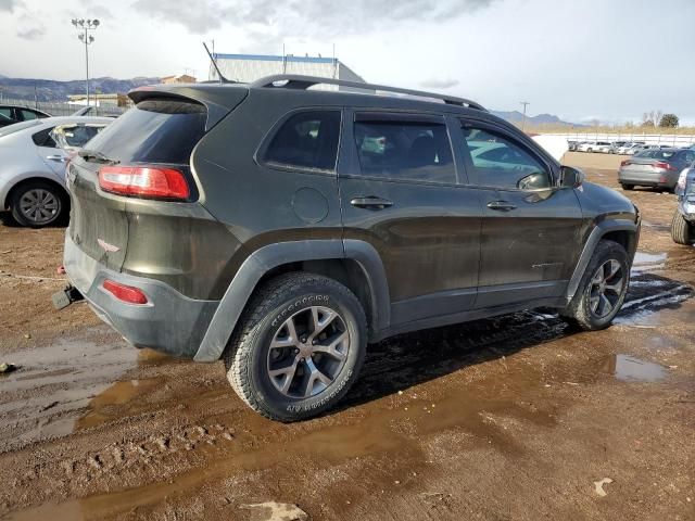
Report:
M136 347L151 347L192 358L210 326L219 301L189 298L168 284L106 269L65 237L67 276L94 313ZM105 279L132 285L148 296L148 304L126 304L102 288Z

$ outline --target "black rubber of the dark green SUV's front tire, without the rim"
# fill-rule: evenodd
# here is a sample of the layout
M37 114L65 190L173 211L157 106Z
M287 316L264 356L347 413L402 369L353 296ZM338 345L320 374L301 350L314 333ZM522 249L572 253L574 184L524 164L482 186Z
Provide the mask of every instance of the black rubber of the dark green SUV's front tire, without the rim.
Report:
M615 302L611 302L610 312L601 315L592 309L592 298L595 285L592 279L597 275L599 268L604 268L606 263L616 260L620 265L622 287L616 292ZM605 272L605 271L604 271ZM577 289L577 293L572 297L569 306L560 312L560 315L569 322L579 327L584 331L596 331L610 326L610 322L620 310L628 292L630 279L630 266L628 264L628 253L622 245L614 241L603 240L596 245L594 255L592 256L586 270ZM599 298L601 300L601 298ZM599 304L601 305L601 304Z

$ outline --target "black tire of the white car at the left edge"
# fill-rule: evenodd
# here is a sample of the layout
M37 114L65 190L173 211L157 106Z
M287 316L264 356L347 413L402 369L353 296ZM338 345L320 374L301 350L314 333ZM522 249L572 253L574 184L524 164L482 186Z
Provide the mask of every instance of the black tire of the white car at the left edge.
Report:
M37 199L38 196L38 199ZM42 196L46 199L41 200ZM29 199L31 198L31 199ZM30 200L37 204L43 203L33 212ZM10 194L10 211L12 218L21 226L30 228L43 228L60 224L68 213L68 199L65 192L56 185L46 181L27 181L12 189Z

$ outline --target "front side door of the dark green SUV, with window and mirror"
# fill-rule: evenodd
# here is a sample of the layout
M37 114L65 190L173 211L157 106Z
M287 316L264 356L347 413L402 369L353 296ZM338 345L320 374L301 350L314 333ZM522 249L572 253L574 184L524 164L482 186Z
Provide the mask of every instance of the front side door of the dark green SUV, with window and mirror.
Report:
M582 212L556 166L525 135L476 119L457 143L482 207L477 308L564 293L580 253Z

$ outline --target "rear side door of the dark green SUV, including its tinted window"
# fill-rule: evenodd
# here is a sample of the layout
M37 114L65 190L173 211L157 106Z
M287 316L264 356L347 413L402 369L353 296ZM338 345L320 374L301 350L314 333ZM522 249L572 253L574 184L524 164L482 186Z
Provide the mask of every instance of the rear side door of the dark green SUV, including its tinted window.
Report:
M348 110L343 125L338 174L344 239L378 252L391 325L470 309L480 201L457 182L445 118Z

